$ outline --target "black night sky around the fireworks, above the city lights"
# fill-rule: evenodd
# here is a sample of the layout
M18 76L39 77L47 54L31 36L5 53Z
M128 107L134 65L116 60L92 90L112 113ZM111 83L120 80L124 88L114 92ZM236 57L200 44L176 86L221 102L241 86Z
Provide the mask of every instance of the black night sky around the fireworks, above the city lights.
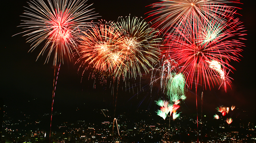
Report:
M99 20L116 21L119 16L131 16L146 18L145 13L152 10L146 7L157 0L88 0L87 3L93 5L94 11L99 13ZM204 89L204 112L210 115L216 114L216 107L220 105L236 105L237 108L247 112L252 112L255 118L255 1L243 0L238 7L247 30L243 41L246 47L240 54L240 62L232 62L236 69L229 74L232 81L232 90L228 87L227 92L218 86L214 89ZM6 105L6 112L9 115L19 115L21 113L37 115L50 114L53 74L52 63L44 64L45 59L36 57L40 47L33 52L28 52L30 44L26 43L26 38L22 34L15 35L23 31L20 25L22 13L28 6L26 0L1 2L1 90L0 100ZM94 20L98 21L98 20ZM150 18L146 19L150 21ZM15 35L15 36L13 36ZM113 96L109 87L97 87L93 89L93 81L84 77L81 83L81 75L77 74L77 66L72 62L62 64L59 71L58 82L53 111L65 113L67 118L73 119L93 119L89 115L94 108L112 107ZM201 89L198 89L198 98L201 98ZM150 97L147 92L133 95L129 91L120 91L118 100L121 112L134 112L136 109L150 109L151 112L157 110L157 106L152 103L157 100L157 96ZM183 114L196 112L195 90L187 92L187 100L182 105ZM200 103L201 100L198 102ZM200 109L200 108L199 108ZM198 109L198 111L200 111ZM78 112L79 111L79 112ZM78 112L78 114L75 114ZM112 111L113 112L113 111Z

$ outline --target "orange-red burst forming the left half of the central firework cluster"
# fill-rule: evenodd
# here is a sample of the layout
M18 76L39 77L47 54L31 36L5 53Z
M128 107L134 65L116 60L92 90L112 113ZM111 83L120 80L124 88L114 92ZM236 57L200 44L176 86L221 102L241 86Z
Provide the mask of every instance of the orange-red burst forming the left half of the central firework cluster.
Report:
M81 37L79 61L84 61L92 65L93 69L102 72L111 73L121 66L121 53L118 52L121 33L115 31L115 28L108 23L102 22L95 25L92 29L84 32Z

